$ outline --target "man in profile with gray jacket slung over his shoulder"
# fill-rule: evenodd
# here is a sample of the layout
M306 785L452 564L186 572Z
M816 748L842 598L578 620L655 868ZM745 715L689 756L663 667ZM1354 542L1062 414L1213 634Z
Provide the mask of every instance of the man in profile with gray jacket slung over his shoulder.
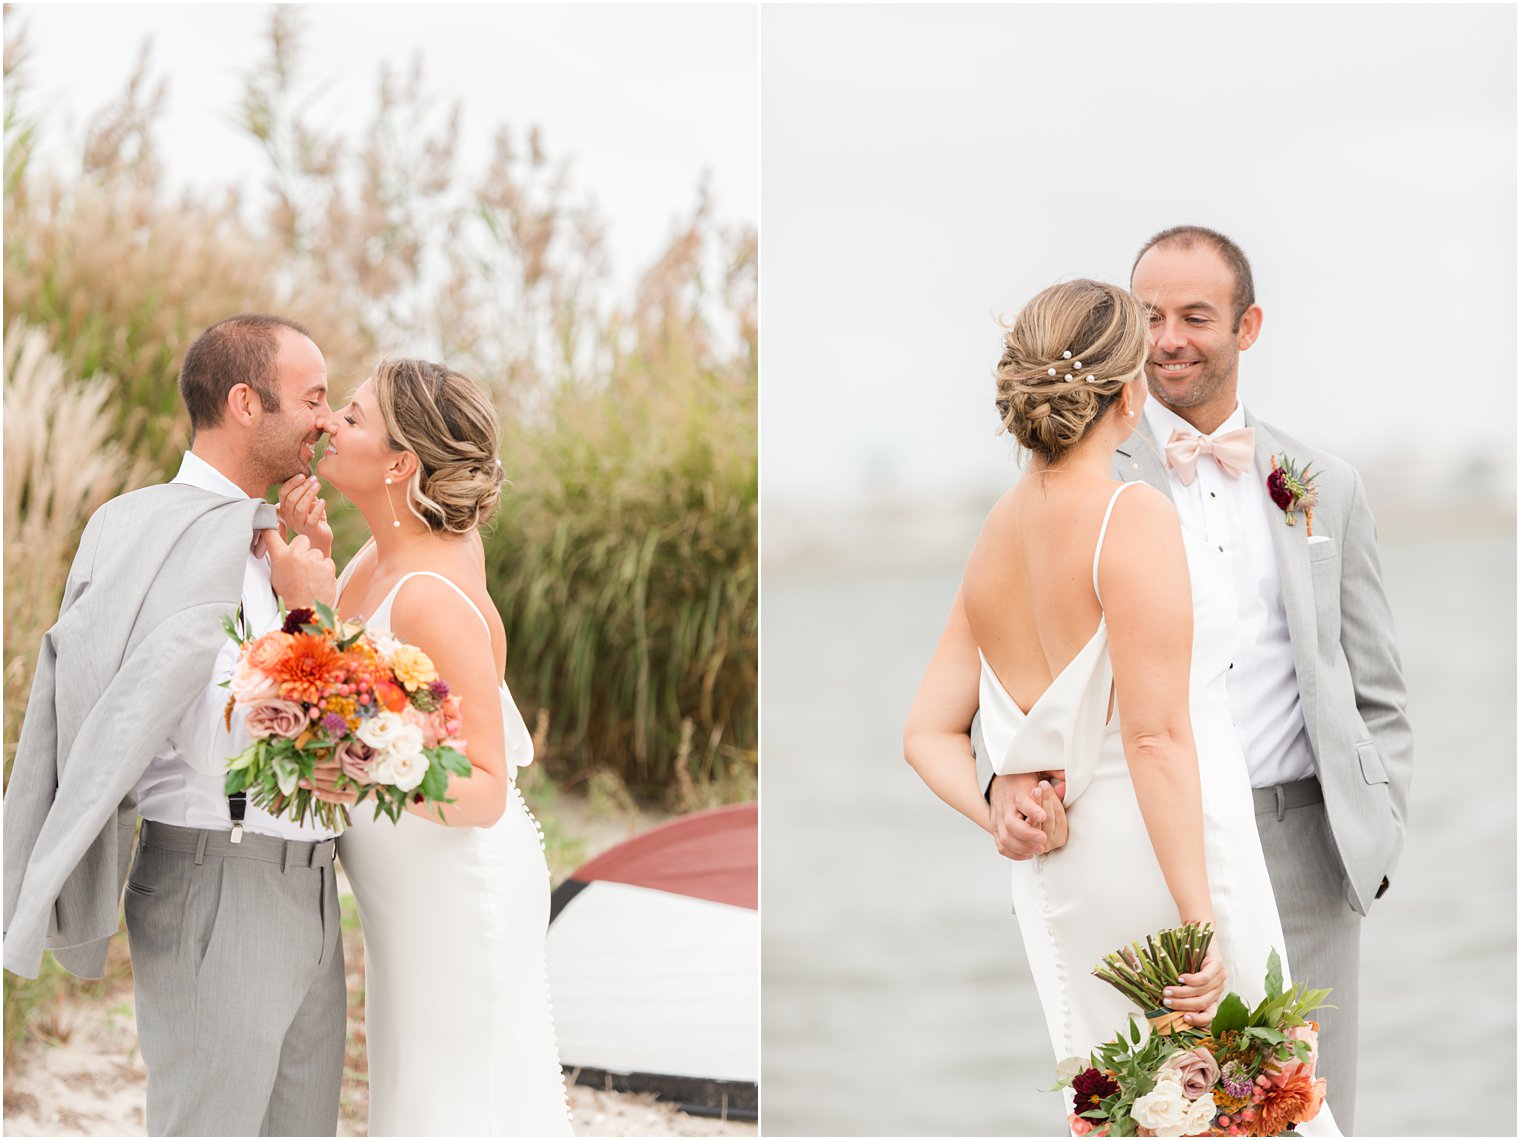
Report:
M217 684L225 614L263 634L277 596L333 599L331 561L263 502L310 471L327 366L293 321L240 315L190 347L179 392L179 474L94 512L38 654L5 800L5 965L35 977L49 947L100 977L125 877L149 1132L334 1135L333 838L223 795L246 733Z

